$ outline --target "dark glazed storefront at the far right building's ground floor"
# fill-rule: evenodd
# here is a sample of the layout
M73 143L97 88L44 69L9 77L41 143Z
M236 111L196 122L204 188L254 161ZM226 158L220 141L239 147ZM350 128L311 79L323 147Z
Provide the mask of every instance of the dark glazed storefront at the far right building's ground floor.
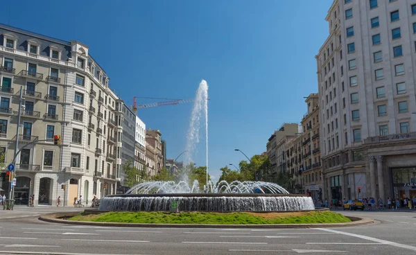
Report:
M393 168L393 194L395 198L413 199L416 197L416 167L414 168Z

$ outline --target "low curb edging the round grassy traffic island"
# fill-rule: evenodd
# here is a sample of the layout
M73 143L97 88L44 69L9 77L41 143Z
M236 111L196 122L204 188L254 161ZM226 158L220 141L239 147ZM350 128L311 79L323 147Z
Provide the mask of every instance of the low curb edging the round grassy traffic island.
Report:
M370 218L359 218L345 216L352 222L324 223L324 224L268 224L268 225L208 225L208 224L155 224L155 223L119 223L119 222L88 222L70 221L62 218L76 216L79 212L48 213L40 216L39 220L46 222L68 224L68 225L89 225L100 227L171 227L171 228L239 228L239 229L310 229L315 227L354 227L374 223Z

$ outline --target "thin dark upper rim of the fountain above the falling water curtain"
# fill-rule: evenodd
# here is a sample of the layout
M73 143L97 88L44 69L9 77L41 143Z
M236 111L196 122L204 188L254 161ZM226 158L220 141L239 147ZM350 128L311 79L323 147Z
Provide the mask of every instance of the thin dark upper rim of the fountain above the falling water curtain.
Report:
M263 193L158 193L158 194L116 194L103 197L308 197L302 194Z

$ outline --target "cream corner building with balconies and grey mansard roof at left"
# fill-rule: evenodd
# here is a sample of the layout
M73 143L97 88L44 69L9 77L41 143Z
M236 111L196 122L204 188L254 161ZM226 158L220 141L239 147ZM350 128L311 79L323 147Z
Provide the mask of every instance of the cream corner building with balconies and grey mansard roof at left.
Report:
M0 35L0 148L10 163L19 137L17 204L27 204L29 195L35 205L55 204L58 196L71 205L80 195L90 203L94 195L115 193L117 97L89 47L3 24ZM60 145L53 135L61 136Z

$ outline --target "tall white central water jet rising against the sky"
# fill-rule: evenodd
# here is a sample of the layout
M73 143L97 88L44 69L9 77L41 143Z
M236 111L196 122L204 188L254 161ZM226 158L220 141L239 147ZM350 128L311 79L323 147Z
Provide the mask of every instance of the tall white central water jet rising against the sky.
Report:
M202 119L205 118L205 123ZM207 150L207 184L208 184L208 85L205 80L200 82L198 90L196 91L195 101L191 114L191 121L189 122L189 130L187 134L187 152L185 155L185 162L189 164L193 162L192 157L198 152L197 145L200 142L200 130L205 124L205 143ZM182 180L188 182L188 173L182 177Z

